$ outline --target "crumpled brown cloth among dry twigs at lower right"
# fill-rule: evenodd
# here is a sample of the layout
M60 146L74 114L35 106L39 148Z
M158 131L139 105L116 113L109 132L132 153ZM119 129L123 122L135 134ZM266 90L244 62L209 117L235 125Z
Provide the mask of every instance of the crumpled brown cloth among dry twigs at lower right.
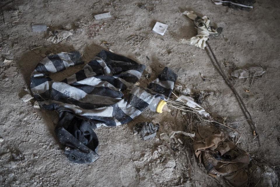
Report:
M225 139L223 132L216 131L201 141L195 141L195 155L209 173L224 176L233 186L246 186L245 167L250 162L249 155L237 152L235 144Z

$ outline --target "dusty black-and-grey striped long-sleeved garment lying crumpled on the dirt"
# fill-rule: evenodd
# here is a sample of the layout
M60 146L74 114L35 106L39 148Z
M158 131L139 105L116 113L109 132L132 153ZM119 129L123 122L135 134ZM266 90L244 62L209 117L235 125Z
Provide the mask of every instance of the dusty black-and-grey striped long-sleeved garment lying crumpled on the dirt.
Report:
M99 158L94 129L127 123L155 97L168 98L177 75L165 67L148 88L134 86L145 66L102 50L76 74L60 82L49 77L83 63L77 51L48 56L33 71L30 87L41 108L59 113L55 133L69 160L91 163ZM128 87L132 89L124 95L122 91Z

